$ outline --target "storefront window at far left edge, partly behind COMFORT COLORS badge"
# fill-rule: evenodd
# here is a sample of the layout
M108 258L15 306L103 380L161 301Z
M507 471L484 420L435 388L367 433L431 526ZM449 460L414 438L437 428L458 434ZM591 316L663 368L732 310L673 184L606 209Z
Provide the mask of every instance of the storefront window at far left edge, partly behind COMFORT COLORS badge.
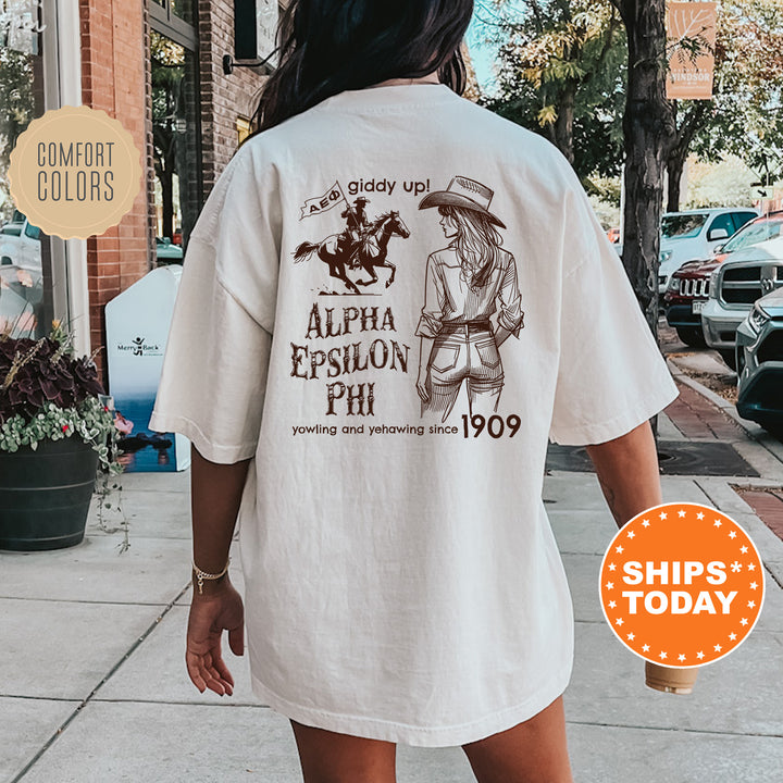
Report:
M51 241L16 210L8 170L22 132L44 114L44 20L35 2L0 0L0 332L40 337L52 320Z

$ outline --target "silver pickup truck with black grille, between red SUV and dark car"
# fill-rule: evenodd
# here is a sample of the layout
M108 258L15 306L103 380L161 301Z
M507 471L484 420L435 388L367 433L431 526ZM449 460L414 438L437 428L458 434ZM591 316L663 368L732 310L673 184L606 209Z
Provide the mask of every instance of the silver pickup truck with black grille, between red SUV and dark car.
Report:
M705 340L736 369L736 330L757 299L783 287L783 236L732 253L712 273L701 311Z

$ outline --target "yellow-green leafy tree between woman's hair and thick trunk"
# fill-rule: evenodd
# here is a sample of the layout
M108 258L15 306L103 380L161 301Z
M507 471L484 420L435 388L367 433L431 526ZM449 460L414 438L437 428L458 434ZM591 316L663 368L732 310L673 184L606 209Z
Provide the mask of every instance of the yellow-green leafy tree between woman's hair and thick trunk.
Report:
M482 9L500 64L499 97L486 105L544 133L581 176L617 173L624 46L613 7L493 0Z

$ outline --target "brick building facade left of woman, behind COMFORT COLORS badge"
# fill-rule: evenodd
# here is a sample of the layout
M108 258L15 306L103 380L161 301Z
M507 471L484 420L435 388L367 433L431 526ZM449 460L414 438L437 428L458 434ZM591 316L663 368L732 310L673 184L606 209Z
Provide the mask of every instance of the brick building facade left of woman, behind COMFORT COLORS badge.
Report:
M177 3L181 9L184 3ZM161 9L166 9L167 18ZM239 134L256 109L264 76L256 69L224 74L222 59L234 53L233 0L194 0L182 20L169 0L78 0L82 51L82 99L120 120L142 151L144 183L130 212L119 226L87 240L90 343L105 364L104 307L147 272L156 261L160 187L156 188L151 88L152 35L187 49L183 95L195 116L179 138L188 174L179 172L181 208L191 227L198 211L231 160ZM187 24L186 24L187 23ZM160 40L160 39L159 39ZM157 196L158 194L158 196Z

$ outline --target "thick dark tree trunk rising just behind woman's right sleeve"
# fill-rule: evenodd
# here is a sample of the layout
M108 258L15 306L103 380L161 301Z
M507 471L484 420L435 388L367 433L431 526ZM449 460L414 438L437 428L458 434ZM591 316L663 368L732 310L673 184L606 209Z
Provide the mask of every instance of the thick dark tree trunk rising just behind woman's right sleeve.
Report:
M672 138L666 99L666 2L617 0L616 5L629 47L623 265L657 336L663 171Z

